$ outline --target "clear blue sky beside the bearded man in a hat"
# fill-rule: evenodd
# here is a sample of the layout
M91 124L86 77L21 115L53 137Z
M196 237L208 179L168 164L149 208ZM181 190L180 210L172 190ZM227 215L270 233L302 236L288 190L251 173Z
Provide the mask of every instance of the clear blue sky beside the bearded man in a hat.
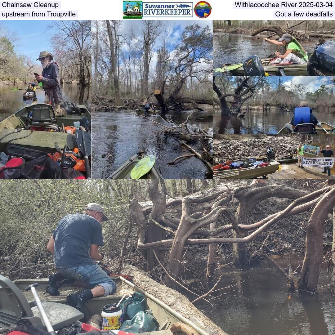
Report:
M17 54L24 54L34 58L39 56L40 51L51 50L50 37L55 30L48 29L52 21L48 20L0 20L7 30L15 32L18 41L15 45Z

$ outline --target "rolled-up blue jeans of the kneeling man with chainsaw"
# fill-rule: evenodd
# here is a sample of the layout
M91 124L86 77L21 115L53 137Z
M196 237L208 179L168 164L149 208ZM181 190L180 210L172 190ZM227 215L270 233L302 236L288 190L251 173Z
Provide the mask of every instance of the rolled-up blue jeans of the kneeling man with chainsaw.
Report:
M81 265L58 269L67 278L72 278L84 282L89 289L95 286L102 286L106 295L116 291L114 280L97 264Z

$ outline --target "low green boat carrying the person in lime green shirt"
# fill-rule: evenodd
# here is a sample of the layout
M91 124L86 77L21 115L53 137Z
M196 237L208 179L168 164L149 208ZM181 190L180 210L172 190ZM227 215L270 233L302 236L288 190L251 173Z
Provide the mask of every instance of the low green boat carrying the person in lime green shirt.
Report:
M278 75L278 68L283 69L287 76L307 76L307 63L288 64L288 65L281 65L281 64L268 65L271 60L272 58L265 58L261 60L264 66L264 71L268 73L270 76ZM233 76L245 75L245 71L243 69L243 63L223 65L222 67L216 68L213 71L229 73Z

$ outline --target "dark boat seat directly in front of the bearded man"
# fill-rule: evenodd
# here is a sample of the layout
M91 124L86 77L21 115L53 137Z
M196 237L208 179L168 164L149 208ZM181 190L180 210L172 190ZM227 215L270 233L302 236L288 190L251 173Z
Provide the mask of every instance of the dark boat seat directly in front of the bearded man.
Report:
M48 104L36 104L30 106L25 120L26 125L36 127L57 125L57 118L55 117L54 109Z

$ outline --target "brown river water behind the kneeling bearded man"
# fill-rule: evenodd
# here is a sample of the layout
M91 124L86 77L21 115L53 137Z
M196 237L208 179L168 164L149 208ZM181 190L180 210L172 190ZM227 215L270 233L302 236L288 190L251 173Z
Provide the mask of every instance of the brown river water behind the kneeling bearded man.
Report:
M31 99L23 100L24 90L12 91L12 88L26 88L27 85L20 84L18 86L4 85L0 86L0 121L14 114L24 106L32 103ZM68 102L75 102L85 105L91 110L91 89L89 86L80 89L77 84L64 84L62 86L63 98ZM45 93L42 89L36 90L36 96L39 103L44 102Z

